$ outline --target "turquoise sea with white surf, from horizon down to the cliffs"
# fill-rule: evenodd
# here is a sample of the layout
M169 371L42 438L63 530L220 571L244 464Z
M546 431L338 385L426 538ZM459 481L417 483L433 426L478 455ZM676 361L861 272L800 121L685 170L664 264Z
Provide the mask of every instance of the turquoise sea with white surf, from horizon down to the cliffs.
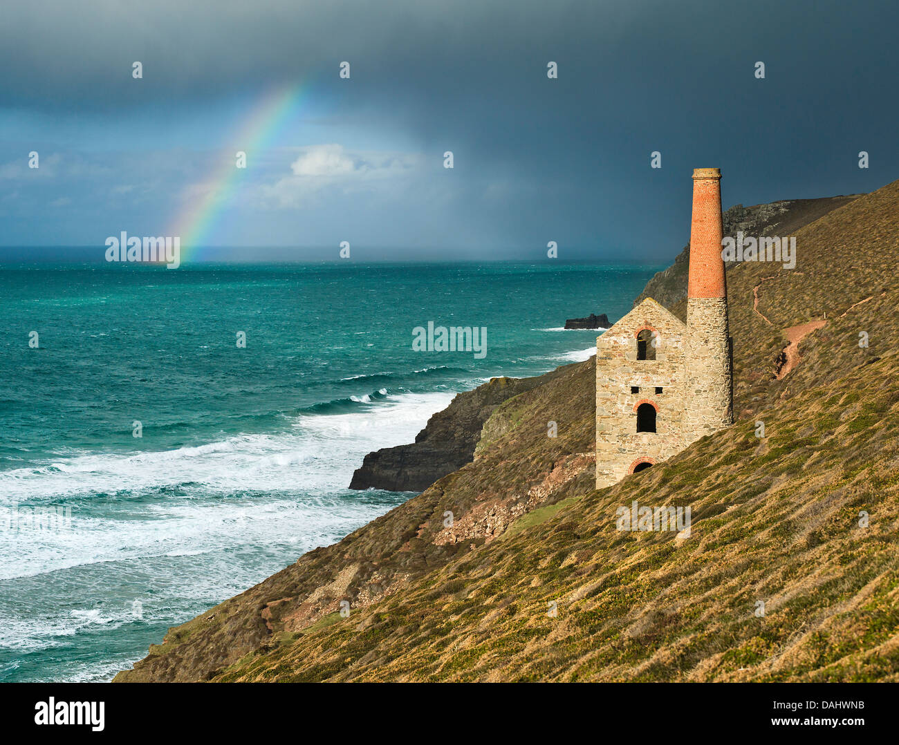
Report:
M658 269L0 266L0 681L108 680L405 501L346 489L366 453L586 359L565 318L617 320ZM414 351L429 321L486 327L484 359Z

